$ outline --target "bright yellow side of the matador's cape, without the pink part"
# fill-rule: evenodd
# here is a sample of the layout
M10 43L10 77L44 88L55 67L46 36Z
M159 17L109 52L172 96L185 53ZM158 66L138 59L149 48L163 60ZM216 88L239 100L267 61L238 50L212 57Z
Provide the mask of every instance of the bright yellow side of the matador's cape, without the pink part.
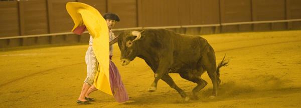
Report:
M93 37L93 51L99 62L95 87L112 95L109 79L109 34L105 19L95 8L83 3L69 2L66 9L75 24L72 32L84 24Z

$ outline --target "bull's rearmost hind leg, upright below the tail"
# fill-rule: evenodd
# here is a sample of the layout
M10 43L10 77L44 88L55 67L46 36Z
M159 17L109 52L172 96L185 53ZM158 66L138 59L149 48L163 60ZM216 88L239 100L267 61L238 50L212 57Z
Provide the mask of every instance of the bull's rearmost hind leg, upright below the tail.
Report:
M220 84L220 79L216 73L215 54L214 54L214 51L212 48L211 48L210 52L203 54L203 57L201 59L201 64L203 65L205 70L207 70L207 73L213 84L212 95L209 98L211 98L211 99L216 98L217 89Z

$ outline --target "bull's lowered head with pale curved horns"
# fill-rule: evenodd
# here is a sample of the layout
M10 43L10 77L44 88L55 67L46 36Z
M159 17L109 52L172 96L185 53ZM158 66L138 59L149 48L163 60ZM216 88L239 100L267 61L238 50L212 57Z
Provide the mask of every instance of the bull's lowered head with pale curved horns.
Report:
M141 31L143 32L143 31ZM138 55L137 50L138 40L143 39L139 31L123 31L119 34L118 46L121 52L120 63L121 65L127 65L130 61ZM142 36L142 38L141 38Z

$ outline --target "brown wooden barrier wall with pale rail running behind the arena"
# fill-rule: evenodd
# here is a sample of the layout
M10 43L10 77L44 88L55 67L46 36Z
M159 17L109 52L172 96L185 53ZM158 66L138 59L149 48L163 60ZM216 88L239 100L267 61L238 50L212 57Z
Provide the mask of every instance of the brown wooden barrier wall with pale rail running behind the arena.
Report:
M88 4L102 15L118 14L114 29L166 27L190 35L301 29L299 0L28 0L0 2L0 38L70 32L74 23L66 11L68 2ZM260 21L279 22L241 24ZM88 39L88 34L2 39L0 47Z

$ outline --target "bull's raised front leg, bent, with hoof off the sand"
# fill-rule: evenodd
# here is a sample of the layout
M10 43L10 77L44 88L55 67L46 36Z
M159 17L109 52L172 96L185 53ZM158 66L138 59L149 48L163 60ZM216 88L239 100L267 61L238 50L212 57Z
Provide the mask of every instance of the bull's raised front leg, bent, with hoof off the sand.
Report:
M154 92L157 90L157 83L159 81L159 79L162 78L162 76L168 72L167 69L170 67L170 65L172 64L171 60L166 60L166 59L161 59L159 62L159 66L157 71L155 72L155 80L152 83L152 85L150 85L150 87L148 88L149 92Z

